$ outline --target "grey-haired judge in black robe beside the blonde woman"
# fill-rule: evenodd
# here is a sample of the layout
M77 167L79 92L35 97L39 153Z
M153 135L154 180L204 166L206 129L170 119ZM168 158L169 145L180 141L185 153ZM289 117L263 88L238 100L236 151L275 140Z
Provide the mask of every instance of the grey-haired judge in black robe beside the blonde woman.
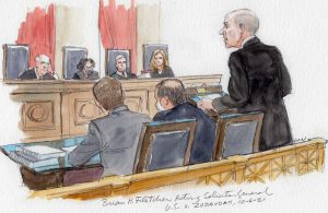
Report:
M116 72L110 74L112 78L117 80L136 79L136 75L127 71L127 58L119 54L115 57Z

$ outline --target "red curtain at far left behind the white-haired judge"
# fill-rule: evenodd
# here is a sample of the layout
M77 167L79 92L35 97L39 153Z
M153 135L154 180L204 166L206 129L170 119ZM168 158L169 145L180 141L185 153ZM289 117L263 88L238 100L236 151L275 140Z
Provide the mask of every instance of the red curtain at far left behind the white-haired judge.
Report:
M21 23L16 44L30 45L30 67L34 66L35 56L45 54L55 69L54 4L48 7L48 11L37 7L27 13L25 22Z

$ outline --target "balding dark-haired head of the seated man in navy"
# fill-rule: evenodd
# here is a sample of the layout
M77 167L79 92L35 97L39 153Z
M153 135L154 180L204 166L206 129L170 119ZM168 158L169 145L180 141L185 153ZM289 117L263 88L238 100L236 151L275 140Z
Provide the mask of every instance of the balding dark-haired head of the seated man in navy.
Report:
M174 105L181 104L186 100L185 86L178 79L166 79L156 85L157 97L167 97Z

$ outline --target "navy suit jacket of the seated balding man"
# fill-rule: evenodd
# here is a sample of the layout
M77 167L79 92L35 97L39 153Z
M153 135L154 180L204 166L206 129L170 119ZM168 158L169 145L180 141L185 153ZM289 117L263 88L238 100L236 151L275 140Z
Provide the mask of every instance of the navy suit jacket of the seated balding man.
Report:
M188 118L196 118L196 130L189 164L209 162L213 152L215 123L201 109L189 103L183 103L171 110L157 113L153 120L172 121Z

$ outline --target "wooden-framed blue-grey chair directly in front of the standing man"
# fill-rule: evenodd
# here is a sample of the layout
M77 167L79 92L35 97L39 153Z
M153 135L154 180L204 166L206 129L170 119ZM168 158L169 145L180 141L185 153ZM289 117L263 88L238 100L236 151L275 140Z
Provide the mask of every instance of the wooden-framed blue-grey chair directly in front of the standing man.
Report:
M224 114L216 122L213 159L245 155L259 151L263 114Z

